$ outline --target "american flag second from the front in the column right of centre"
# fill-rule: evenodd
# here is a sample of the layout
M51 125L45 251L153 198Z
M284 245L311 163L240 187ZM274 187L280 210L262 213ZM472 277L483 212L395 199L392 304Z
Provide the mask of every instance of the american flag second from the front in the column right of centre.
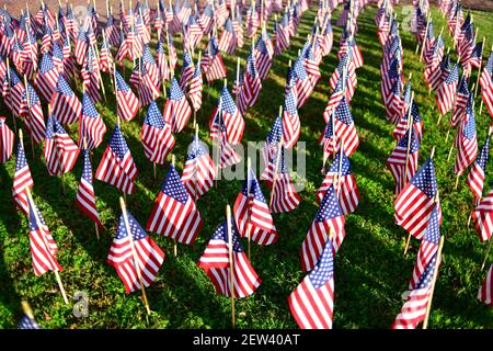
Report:
M301 245L301 268L305 272L316 267L328 240L332 241L334 253L337 252L346 235L344 224L344 214L339 204L337 194L331 185L323 195L319 211ZM330 238L330 231L333 233L333 238Z

